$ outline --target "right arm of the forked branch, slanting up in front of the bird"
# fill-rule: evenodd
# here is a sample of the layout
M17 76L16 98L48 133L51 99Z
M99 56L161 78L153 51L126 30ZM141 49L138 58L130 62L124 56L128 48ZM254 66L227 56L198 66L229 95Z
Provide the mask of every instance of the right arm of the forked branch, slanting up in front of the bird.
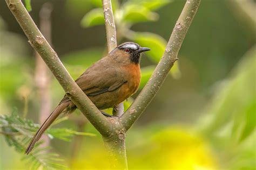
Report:
M186 36L188 27L190 26L199 7L200 0L187 0L181 12L179 19L174 26L173 32L165 49L164 55L161 57L154 73L146 86L140 92L136 100L132 103L129 109L119 118L120 124L127 131L132 124L139 118L147 105L152 101L157 94L159 88L163 84L165 77L172 68L174 62L178 59L179 49Z

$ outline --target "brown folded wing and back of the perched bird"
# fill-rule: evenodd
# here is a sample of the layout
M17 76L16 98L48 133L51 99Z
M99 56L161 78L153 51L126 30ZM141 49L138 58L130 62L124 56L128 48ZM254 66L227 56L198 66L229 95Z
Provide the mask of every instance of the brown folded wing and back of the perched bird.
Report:
M103 58L89 67L78 79L76 83L87 96L95 96L107 91L118 89L127 80L117 66L110 67L111 63L107 58ZM69 97L64 96L60 103L68 102Z

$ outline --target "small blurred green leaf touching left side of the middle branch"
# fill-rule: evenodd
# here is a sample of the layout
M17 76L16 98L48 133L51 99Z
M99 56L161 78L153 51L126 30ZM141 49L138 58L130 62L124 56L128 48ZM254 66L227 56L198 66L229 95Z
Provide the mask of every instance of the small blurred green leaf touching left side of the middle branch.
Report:
M85 14L81 20L82 27L91 27L104 24L104 15L102 8L93 9Z

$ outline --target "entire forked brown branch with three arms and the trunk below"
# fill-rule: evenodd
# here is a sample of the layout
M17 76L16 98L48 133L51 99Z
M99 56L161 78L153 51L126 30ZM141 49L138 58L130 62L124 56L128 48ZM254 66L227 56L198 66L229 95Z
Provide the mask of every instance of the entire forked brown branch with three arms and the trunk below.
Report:
M51 72L58 80L59 84L65 90L65 93L69 96L70 100L92 123L92 125L95 126L100 134L102 134L104 143L106 147L109 148L113 157L119 158L114 159L116 160L116 167L127 169L125 153L126 132L131 128L134 122L136 122L142 112L146 109L147 105L152 101L174 62L178 60L177 56L179 49L185 38L188 27L197 12L200 0L187 0L180 17L174 26L165 52L150 80L124 114L123 106L122 104L119 104L118 109L116 109L118 111L113 112L114 116L119 117L111 118L103 116L83 91L77 86L66 68L63 66L62 62L59 60L57 53L52 49L42 33L38 30L21 0L5 1L28 37L31 46L41 55L46 65L48 65ZM117 46L116 27L114 25L111 1L102 0L102 3L106 26L107 46L108 51L110 52Z

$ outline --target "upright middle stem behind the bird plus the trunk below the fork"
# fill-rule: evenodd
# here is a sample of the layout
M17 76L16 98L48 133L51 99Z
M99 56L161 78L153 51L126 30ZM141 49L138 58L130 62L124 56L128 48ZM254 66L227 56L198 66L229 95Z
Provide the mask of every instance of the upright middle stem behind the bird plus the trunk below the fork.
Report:
M112 11L111 0L102 0L102 6L104 11L105 27L106 27L106 38L107 38L107 49L109 53L112 49L117 46L117 33L116 26L114 24L114 16ZM117 123L119 116L124 113L123 102L116 105L113 108L112 122ZM125 136L126 133L121 126L116 124L116 131L111 137L103 138L104 144L109 151L109 157L111 159L111 168L122 168L127 169L127 158L125 150Z

